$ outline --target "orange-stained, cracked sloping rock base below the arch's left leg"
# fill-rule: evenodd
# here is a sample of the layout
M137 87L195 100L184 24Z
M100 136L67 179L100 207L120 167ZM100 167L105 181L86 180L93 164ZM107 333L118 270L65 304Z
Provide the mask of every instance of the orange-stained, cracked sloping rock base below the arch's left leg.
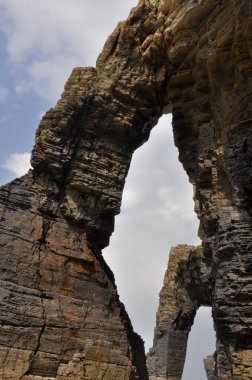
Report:
M49 177L1 189L1 379L147 378L143 343Z

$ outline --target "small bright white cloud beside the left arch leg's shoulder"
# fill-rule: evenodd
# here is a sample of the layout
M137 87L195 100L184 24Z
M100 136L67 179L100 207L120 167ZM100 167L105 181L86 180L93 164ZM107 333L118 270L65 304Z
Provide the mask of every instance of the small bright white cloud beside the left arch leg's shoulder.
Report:
M1 164L1 167L12 172L16 177L21 177L30 169L30 153L13 153Z

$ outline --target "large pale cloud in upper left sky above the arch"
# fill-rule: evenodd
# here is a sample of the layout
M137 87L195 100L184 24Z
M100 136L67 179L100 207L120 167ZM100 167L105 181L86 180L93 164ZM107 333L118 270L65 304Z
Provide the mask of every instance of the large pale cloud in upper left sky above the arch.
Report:
M74 66L95 65L106 37L135 0L0 0L0 28L16 69L16 92L55 102ZM111 12L113 9L113 12Z

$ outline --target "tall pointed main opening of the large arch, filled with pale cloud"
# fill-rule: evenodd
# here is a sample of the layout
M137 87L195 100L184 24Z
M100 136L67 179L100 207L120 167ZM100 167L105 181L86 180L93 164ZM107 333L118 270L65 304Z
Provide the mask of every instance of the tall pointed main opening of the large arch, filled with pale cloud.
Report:
M152 345L158 294L171 246L198 245L193 189L178 160L171 115L133 156L115 232L104 250L134 330Z

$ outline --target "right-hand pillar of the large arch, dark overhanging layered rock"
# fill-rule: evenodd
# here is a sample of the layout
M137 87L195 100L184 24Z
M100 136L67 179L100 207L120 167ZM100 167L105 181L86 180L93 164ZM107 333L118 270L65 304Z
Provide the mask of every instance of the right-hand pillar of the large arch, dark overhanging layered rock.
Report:
M167 31L177 67L167 94L180 160L195 187L203 260L211 266L217 378L246 380L252 376L252 7L186 3Z

